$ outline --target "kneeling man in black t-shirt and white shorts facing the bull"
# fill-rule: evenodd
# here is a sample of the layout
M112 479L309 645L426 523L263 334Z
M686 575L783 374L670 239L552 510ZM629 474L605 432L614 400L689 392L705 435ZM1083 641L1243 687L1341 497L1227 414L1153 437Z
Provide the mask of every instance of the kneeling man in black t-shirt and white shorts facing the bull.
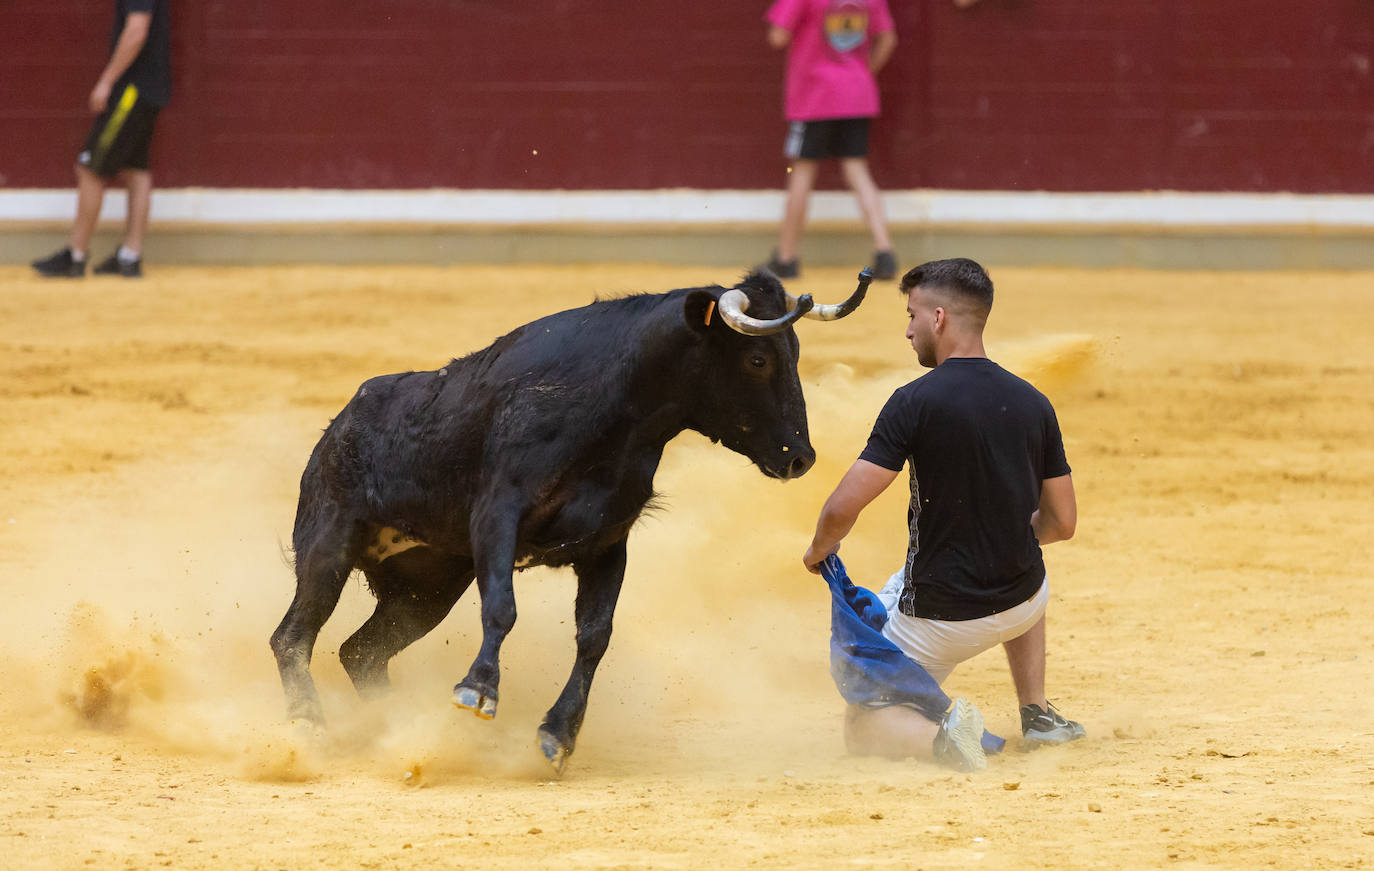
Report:
M971 260L922 264L900 284L907 339L929 374L888 400L859 459L822 508L802 562L840 548L859 514L904 466L911 473L907 561L879 596L882 633L944 681L1002 644L1030 743L1081 738L1044 695L1048 580L1040 545L1073 536L1073 478L1054 408L988 360L992 280ZM852 750L930 756L936 725L912 709L851 706Z

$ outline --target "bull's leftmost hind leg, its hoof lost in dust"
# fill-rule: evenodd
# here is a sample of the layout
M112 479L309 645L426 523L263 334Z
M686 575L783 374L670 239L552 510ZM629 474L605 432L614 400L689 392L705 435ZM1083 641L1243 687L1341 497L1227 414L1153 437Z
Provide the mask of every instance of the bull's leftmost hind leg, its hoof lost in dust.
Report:
M311 655L320 626L334 613L344 582L363 550L361 528L333 528L312 543L297 541L295 598L272 633L272 653L286 691L290 719L324 723L320 697L311 679Z

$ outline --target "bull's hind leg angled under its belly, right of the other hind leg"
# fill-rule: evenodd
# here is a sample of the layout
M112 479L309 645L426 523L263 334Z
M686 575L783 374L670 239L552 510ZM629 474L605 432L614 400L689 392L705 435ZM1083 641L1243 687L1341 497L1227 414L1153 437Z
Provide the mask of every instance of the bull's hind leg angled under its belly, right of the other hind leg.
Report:
M376 610L339 646L344 670L359 695L376 697L390 686L386 664L453 609L473 582L473 562L415 548L368 569Z

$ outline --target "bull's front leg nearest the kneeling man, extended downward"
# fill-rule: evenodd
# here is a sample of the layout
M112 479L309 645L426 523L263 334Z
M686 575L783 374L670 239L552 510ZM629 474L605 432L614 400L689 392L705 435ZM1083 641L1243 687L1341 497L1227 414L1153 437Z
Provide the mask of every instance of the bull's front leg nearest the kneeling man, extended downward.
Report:
M573 753L587 713L592 676L610 644L611 617L625 577L625 541L618 541L594 559L576 563L573 569L577 572L577 659L563 692L539 727L539 747L559 773Z

